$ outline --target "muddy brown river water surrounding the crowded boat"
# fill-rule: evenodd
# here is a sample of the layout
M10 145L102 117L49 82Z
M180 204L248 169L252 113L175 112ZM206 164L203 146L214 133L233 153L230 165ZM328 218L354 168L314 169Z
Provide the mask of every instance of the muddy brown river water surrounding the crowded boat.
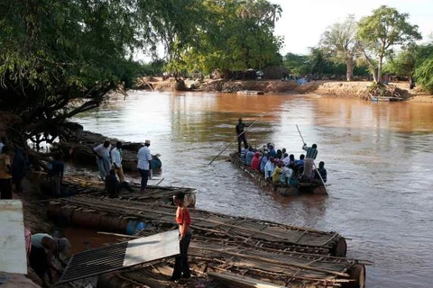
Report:
M200 209L338 231L350 238L348 257L374 262L367 267L368 287L429 287L432 111L431 103L318 95L132 92L76 121L109 137L151 139L162 161L152 183L164 178L161 184L196 187ZM246 132L251 144L272 141L295 157L302 153L297 124L308 144L318 144L317 162L326 163L331 195L284 198L239 173L226 159L237 147L240 116L257 120Z

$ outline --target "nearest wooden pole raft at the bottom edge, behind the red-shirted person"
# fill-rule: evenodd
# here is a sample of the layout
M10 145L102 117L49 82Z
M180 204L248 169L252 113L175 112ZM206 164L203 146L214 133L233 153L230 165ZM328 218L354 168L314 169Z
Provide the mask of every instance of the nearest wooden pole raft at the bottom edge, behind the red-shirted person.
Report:
M246 247L224 238L197 238L196 234L189 247L189 265L198 276L207 276L206 287L364 287L364 265L370 264L342 257ZM152 264L152 268L142 266L119 276L124 282L163 287L172 265L172 261L161 261Z

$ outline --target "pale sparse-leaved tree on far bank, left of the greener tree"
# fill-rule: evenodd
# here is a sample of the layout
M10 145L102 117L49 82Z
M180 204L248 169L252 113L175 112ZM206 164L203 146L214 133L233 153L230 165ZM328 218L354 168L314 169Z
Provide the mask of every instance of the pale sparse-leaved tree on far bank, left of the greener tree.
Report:
M354 75L355 58L359 54L360 43L356 39L354 15L349 15L344 23L334 23L322 34L320 46L325 49L336 63L346 66L346 79L351 81Z

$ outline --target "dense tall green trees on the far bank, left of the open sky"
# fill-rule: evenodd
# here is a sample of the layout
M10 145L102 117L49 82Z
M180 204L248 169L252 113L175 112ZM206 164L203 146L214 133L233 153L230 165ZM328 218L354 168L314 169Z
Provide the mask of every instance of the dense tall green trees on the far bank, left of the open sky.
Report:
M261 69L279 63L282 40L273 36L281 7L265 0L204 1L206 15L196 40L175 51L169 68L172 71L221 71Z

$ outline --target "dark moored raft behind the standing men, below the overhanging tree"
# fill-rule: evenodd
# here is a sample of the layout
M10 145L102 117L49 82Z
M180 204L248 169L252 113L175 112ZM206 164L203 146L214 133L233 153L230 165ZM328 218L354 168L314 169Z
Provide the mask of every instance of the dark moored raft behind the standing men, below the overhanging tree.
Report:
M97 160L93 153L93 148L104 143L106 136L90 131L82 131L79 140L76 137L71 137L67 141L60 141L53 145L59 148L66 159L75 159L80 163L97 166ZM115 145L118 139L111 139L111 144ZM122 141L122 166L124 171L137 170L137 151L142 147L141 143L124 142ZM152 170L153 173L161 172L161 155L152 155Z

